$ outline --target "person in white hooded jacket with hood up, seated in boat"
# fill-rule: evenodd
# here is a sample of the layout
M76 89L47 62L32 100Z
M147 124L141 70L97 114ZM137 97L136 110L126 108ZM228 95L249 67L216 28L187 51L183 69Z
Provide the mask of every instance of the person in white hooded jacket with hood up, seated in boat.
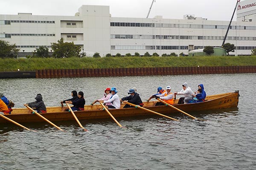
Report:
M186 82L182 84L182 87L183 89L180 92L175 92L174 94L184 96L180 97L178 104L188 104L193 100L192 94L194 94L194 92L191 90L191 88L188 86L188 83Z

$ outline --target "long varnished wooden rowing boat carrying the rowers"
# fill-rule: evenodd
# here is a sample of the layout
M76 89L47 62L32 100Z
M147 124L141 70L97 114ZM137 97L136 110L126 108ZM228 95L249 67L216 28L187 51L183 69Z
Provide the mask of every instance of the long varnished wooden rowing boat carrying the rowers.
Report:
M143 108L147 108L151 111L155 111L162 114L172 115L178 111L168 106L154 106L157 101L144 102ZM178 99L175 99L174 105L176 108L187 112L202 112L208 110L224 109L224 108L236 108L239 102L239 91L226 94L216 94L206 97L205 102L191 103L191 104L177 104ZM153 115L148 111L139 108L122 108L110 109L109 111L114 117L132 117L132 116L145 116ZM74 112L79 120L84 119L106 119L109 115L102 109L102 105L85 105L84 111ZM74 120L73 115L70 112L61 112L61 107L49 107L47 113L41 113L49 121L67 121ZM27 108L13 109L12 114L5 115L9 119L15 122L43 122L39 116L28 113ZM7 123L6 119L0 119L0 123ZM9 122L8 122L9 123Z

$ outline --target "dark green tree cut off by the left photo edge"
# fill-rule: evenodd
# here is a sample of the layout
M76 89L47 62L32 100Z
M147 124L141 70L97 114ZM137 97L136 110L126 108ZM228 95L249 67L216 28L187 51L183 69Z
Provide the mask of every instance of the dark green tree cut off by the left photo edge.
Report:
M10 45L8 41L0 40L0 58L14 58L20 51L16 45Z

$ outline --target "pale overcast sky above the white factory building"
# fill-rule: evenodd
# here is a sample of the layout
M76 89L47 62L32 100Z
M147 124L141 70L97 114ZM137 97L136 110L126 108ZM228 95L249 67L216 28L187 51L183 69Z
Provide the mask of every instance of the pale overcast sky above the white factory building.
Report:
M231 19L237 0L155 0L149 18L162 15L183 19L195 14L208 20ZM152 0L0 0L0 14L32 13L32 15L74 16L82 5L110 6L112 17L144 18ZM233 18L236 20L236 14Z

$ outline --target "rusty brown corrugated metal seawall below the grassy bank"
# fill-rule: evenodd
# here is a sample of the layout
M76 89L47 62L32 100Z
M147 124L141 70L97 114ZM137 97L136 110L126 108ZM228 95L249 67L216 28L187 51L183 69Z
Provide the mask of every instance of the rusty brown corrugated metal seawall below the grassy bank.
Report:
M84 68L37 70L36 78L256 73L256 66Z

